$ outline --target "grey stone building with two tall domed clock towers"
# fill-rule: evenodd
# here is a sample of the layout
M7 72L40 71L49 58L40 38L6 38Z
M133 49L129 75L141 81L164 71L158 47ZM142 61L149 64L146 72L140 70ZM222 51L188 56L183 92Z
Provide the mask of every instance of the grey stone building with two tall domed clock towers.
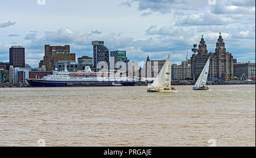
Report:
M214 53L208 53L203 35L199 44L199 49L196 49L196 47L197 45L194 44L194 48L192 49L194 53L191 57L191 78L195 78L197 80L205 63L207 63L208 57L210 57L208 77L233 78L233 56L230 52L226 52L221 32L220 36L218 36Z

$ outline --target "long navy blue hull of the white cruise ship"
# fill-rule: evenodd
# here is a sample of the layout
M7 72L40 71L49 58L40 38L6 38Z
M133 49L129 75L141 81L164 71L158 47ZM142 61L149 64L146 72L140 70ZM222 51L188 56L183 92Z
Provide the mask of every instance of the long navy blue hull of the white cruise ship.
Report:
M135 81L46 81L38 79L26 79L31 87L64 87L64 86L134 86Z

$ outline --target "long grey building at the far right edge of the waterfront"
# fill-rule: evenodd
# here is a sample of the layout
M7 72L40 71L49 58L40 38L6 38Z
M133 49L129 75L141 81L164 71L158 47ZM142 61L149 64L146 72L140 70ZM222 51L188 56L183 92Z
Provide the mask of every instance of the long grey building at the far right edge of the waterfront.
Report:
M234 76L240 77L245 73L247 78L255 79L255 63L250 61L247 63L237 63L234 64Z

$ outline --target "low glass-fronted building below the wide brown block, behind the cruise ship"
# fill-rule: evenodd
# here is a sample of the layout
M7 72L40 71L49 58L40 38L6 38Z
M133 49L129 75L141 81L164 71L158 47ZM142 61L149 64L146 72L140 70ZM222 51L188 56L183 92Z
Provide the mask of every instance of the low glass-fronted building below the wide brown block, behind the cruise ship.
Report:
M57 71L64 71L65 65L67 63L68 72L76 72L79 70L79 63L76 60L59 60L53 65L53 69L57 69Z

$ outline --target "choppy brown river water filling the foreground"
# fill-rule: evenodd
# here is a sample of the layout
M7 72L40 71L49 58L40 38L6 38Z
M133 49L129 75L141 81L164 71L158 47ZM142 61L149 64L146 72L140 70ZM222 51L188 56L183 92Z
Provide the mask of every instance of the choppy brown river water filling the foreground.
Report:
M255 85L0 88L0 146L255 146Z

